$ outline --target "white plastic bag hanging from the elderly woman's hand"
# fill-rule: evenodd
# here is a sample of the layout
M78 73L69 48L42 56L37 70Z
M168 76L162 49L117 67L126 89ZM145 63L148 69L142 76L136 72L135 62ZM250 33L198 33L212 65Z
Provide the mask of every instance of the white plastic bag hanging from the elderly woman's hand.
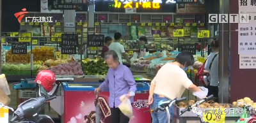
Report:
M131 118L133 113L132 113L132 105L130 99L128 99L125 95L120 96L120 105L118 108L122 113L124 113L125 116Z

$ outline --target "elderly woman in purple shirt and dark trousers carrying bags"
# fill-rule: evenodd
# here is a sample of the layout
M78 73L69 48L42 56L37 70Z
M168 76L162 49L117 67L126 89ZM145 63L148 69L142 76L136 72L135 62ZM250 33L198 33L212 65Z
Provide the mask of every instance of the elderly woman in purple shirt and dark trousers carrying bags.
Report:
M99 88L95 89L95 92L109 89L111 123L129 123L129 117L125 116L118 108L121 103L119 98L126 94L131 103L133 103L133 97L130 96L130 92L135 93L137 89L136 82L131 70L118 62L118 55L115 51L109 50L106 52L104 59L109 66L108 74Z

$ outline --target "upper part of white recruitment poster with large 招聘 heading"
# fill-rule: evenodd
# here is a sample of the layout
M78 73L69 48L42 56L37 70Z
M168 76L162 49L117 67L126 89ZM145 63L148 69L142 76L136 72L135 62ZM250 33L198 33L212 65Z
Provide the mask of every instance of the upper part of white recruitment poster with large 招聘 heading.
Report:
M238 54L256 54L255 4L256 3L249 0L239 1L239 14L249 14L249 16L240 18L249 20L249 23L238 24Z

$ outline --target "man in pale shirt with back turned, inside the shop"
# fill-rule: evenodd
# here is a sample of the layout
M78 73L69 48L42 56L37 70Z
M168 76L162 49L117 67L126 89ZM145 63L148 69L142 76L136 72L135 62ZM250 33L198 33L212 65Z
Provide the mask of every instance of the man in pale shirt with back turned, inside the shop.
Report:
M127 54L124 50L124 46L120 44L122 34L121 33L115 33L114 38L115 38L115 41L109 45L109 50L114 50L116 52L116 54L118 55L120 64L123 64L122 55L124 56L126 61L129 64L131 64L131 61L130 61L129 57L127 56Z

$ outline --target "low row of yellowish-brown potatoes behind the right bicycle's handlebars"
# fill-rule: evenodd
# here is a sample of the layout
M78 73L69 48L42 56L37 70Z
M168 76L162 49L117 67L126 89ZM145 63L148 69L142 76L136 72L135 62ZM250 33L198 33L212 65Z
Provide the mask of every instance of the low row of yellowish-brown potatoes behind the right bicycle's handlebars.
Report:
M195 101L194 100L189 100L188 103L180 102L178 105L180 108L185 108L188 105L194 105ZM202 103L200 105L200 108L230 108L228 104L219 104L219 103Z

